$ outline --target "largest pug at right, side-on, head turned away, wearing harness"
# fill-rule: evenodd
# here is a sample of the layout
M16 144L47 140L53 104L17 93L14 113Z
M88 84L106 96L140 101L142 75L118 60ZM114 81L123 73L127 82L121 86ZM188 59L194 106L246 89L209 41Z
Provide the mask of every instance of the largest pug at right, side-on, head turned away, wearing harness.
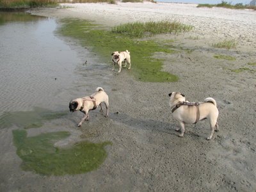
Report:
M215 131L219 131L219 125L217 122L219 111L217 108L216 100L208 97L204 99L204 102L188 102L185 100L185 95L181 93L172 92L169 94L170 107L172 109L173 118L179 122L180 128L175 131L180 131L180 137L184 136L185 125L184 124L196 124L198 120L209 119L211 134L207 140L211 140Z

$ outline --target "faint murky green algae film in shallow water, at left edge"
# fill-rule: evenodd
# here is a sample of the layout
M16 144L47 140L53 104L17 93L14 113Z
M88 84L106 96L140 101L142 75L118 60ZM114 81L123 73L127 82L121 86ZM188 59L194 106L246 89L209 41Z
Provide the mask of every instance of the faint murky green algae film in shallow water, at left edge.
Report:
M67 115L68 111L50 111L35 107L33 111L4 112L0 116L0 129L11 127L13 124L25 129L42 127L45 120L54 120Z

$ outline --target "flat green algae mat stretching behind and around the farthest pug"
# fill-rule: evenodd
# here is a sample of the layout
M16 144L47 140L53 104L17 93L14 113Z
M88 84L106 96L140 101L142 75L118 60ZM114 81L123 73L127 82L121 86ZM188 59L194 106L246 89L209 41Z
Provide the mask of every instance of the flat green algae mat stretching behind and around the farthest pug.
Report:
M143 82L176 82L179 80L179 77L162 70L163 61L152 60L157 52L176 52L170 45L159 44L151 40L138 41L134 36L97 28L88 20L63 19L61 21L65 24L58 33L80 40L83 47L92 47L92 52L100 55L102 62L109 61L111 63L109 68L110 65L113 66L111 61L113 51L128 50L131 52L132 64L132 68L128 72L136 80Z

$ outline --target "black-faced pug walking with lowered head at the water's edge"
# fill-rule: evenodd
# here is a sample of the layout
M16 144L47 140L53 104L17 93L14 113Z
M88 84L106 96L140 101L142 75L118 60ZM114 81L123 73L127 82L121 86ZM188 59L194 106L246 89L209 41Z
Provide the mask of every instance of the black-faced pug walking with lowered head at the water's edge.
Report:
M100 112L103 111L102 108L102 102L105 103L107 113L105 117L108 117L108 108L109 108L109 102L108 102L108 95L106 92L104 92L103 88L98 87L92 95L88 97L78 98L75 100L71 100L69 103L69 111L74 112L80 110L84 113L83 118L81 119L81 122L78 124L78 127L80 127L84 120L89 120L89 111L92 111L97 108L97 106L100 106Z

